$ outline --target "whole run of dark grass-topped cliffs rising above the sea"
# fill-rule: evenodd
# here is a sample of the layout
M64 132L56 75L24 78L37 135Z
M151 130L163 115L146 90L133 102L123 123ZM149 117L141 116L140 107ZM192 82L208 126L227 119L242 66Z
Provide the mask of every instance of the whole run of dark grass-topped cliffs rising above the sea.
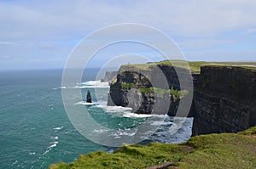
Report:
M213 64L192 62L195 86L189 116L194 116L193 135L213 132L240 132L256 126L256 70L237 67L237 63ZM207 66L205 66L207 65ZM166 76L168 90L160 87L160 69ZM183 74L189 73L182 67ZM154 83L154 87L151 83ZM159 85L159 86L158 86ZM146 65L123 65L117 81L110 87L108 105L131 107L137 114L174 116L180 100L189 91L180 90L176 70L164 62ZM165 107L169 107L167 110ZM182 116L182 115L181 115Z

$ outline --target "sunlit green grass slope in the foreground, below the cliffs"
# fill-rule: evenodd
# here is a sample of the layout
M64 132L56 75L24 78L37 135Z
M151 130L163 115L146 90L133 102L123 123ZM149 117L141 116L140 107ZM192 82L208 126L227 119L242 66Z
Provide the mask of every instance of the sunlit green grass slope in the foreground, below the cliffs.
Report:
M146 168L166 161L173 164L169 168L255 168L256 127L238 134L196 136L183 144L123 146L113 154L98 151L49 168Z

